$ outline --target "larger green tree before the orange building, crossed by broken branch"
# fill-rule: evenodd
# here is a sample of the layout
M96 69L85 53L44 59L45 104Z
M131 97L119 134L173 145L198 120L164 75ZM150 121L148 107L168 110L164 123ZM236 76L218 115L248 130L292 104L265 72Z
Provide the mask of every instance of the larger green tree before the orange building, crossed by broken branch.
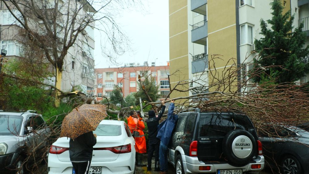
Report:
M149 80L150 79L150 80ZM144 85L145 90L147 91L148 95L150 96L151 100L153 102L155 102L159 97L160 94L159 93L159 86L155 85L155 78L151 77L151 78L146 78L145 81L142 82L142 84ZM140 89L136 94L135 97L137 99L137 103L139 103L139 98L142 98L143 100L146 100L148 102L150 102L147 98L147 96L144 94L144 91L142 89L142 85L140 83L138 83L138 89Z

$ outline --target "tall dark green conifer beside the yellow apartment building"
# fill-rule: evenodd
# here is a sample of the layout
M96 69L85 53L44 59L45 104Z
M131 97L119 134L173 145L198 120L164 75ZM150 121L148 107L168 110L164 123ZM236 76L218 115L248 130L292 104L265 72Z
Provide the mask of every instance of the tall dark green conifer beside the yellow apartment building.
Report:
M267 23L260 20L260 34L264 38L254 42L256 51L260 53L254 63L262 73L253 79L259 83L272 78L276 78L278 84L294 82L309 72L309 63L303 61L309 53L309 46L304 47L306 34L302 32L303 24L292 32L294 15L290 16L290 11L282 13L284 7L280 0L270 4L273 17Z

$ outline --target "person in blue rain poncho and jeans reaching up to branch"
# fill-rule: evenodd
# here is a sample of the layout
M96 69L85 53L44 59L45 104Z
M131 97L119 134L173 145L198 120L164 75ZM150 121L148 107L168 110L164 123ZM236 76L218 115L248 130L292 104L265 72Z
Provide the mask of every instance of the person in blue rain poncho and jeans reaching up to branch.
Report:
M172 132L175 127L178 115L174 114L174 100L168 107L167 119L158 126L157 138L161 140L159 147L160 174L167 174L167 146L171 140Z

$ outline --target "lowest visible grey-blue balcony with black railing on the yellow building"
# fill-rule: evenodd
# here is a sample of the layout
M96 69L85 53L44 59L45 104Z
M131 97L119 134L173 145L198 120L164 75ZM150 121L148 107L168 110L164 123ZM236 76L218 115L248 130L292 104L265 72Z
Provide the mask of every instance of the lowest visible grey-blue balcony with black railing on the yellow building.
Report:
M203 72L205 71L205 68L208 68L208 55L206 53L194 55L192 56L191 63L191 72L193 74L197 72Z

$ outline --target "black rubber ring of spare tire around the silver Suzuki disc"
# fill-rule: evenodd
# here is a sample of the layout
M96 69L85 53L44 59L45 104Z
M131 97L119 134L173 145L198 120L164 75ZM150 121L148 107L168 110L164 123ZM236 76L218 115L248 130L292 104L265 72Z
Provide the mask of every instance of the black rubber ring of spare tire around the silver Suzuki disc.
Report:
M238 136L246 136L252 142L252 151L246 158L237 157L232 150L232 143ZM241 166L247 164L252 160L253 156L257 154L256 140L248 131L241 129L232 130L226 134L222 141L222 152L226 157L227 161L233 166Z

